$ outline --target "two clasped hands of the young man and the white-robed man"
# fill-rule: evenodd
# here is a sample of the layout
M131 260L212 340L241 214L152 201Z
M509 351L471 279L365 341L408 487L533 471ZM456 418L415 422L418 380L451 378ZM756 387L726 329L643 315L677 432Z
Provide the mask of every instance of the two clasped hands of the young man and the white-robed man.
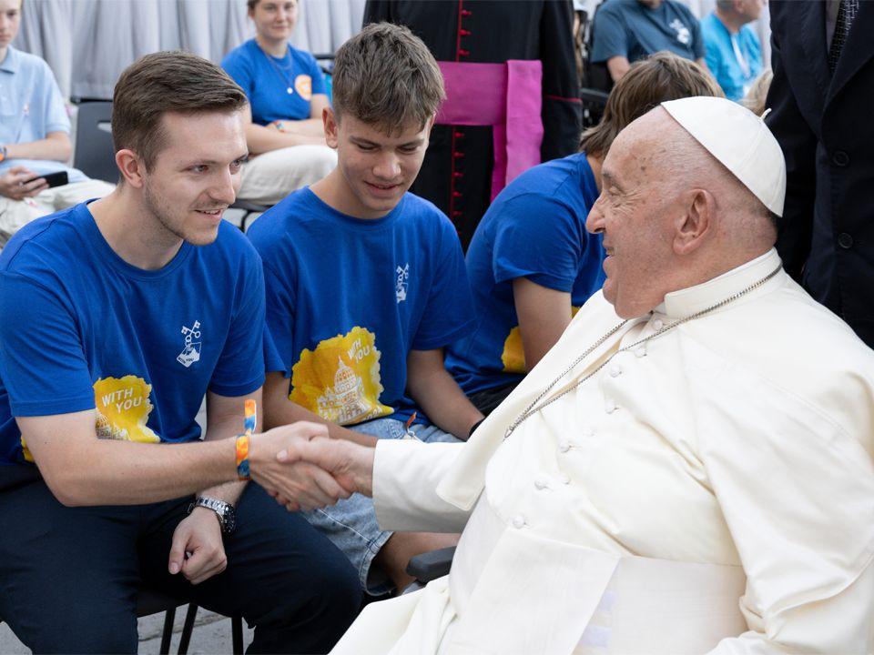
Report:
M328 428L299 421L255 434L253 480L289 511L328 507L353 493L373 493L374 448L329 438Z

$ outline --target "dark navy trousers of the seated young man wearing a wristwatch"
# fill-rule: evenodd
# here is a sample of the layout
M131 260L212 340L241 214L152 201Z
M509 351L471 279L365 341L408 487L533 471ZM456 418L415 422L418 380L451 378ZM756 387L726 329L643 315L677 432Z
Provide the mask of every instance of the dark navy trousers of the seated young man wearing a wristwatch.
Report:
M323 653L361 606L349 560L254 483L225 538L228 569L191 585L168 572L190 498L67 508L42 480L0 492L0 617L36 653L136 653L146 585L255 626L250 653Z

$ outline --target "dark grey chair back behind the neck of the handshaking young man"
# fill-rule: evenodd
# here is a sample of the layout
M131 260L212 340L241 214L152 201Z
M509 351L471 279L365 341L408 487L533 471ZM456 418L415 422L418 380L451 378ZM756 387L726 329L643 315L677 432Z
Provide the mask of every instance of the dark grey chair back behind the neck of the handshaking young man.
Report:
M116 184L118 168L112 146L112 102L97 100L79 105L76 116L76 152L73 166L88 177Z

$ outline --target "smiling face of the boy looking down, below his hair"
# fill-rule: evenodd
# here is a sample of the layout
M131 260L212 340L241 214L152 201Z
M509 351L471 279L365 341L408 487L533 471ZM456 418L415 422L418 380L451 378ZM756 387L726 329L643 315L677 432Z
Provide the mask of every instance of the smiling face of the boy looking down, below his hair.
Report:
M419 175L433 120L386 134L381 126L355 116L338 120L330 109L326 111L325 139L337 150L335 174L340 174L336 208L359 218L385 216Z

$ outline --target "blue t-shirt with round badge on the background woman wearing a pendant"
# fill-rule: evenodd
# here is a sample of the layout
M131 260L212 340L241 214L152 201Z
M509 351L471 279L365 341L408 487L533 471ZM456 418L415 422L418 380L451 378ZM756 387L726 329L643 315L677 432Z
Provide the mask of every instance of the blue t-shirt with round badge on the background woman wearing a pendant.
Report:
M275 57L249 39L225 55L221 67L246 92L258 125L309 118L313 94L328 93L315 58L291 45L284 57Z

